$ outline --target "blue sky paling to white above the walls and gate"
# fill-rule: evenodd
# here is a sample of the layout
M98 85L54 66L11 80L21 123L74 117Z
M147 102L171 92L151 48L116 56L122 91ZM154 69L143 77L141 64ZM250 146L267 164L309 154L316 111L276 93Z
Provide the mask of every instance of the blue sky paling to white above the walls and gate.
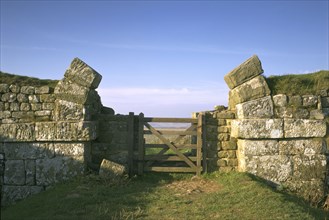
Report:
M224 75L329 69L328 1L4 1L0 69L61 79L74 57L117 113L189 117L227 105Z

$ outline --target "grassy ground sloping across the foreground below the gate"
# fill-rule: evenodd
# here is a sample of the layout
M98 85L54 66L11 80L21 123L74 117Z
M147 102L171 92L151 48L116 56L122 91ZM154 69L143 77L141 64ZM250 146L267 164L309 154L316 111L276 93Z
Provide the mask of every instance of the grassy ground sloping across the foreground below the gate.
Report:
M329 219L244 173L84 176L2 210L2 219Z

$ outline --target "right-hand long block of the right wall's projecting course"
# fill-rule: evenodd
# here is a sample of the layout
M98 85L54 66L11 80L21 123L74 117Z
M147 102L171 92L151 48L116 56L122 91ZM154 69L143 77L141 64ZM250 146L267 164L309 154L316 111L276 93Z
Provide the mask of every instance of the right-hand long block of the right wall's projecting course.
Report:
M325 121L309 119L284 119L286 138L324 137L327 127Z

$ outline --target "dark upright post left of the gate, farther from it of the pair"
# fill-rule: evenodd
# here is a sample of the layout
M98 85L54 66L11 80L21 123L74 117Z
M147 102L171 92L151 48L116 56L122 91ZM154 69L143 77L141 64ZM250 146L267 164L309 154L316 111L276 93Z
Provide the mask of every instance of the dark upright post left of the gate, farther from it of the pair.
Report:
M128 116L128 174L129 177L134 175L134 113L129 112Z

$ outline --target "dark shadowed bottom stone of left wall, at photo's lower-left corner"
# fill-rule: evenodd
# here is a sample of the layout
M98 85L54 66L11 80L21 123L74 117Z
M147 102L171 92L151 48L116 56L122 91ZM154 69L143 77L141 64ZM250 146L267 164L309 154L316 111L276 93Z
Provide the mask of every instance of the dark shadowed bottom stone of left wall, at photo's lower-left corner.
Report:
M44 190L43 186L6 186L2 188L3 197L1 205L7 206L14 201L24 199L30 195L40 193Z

